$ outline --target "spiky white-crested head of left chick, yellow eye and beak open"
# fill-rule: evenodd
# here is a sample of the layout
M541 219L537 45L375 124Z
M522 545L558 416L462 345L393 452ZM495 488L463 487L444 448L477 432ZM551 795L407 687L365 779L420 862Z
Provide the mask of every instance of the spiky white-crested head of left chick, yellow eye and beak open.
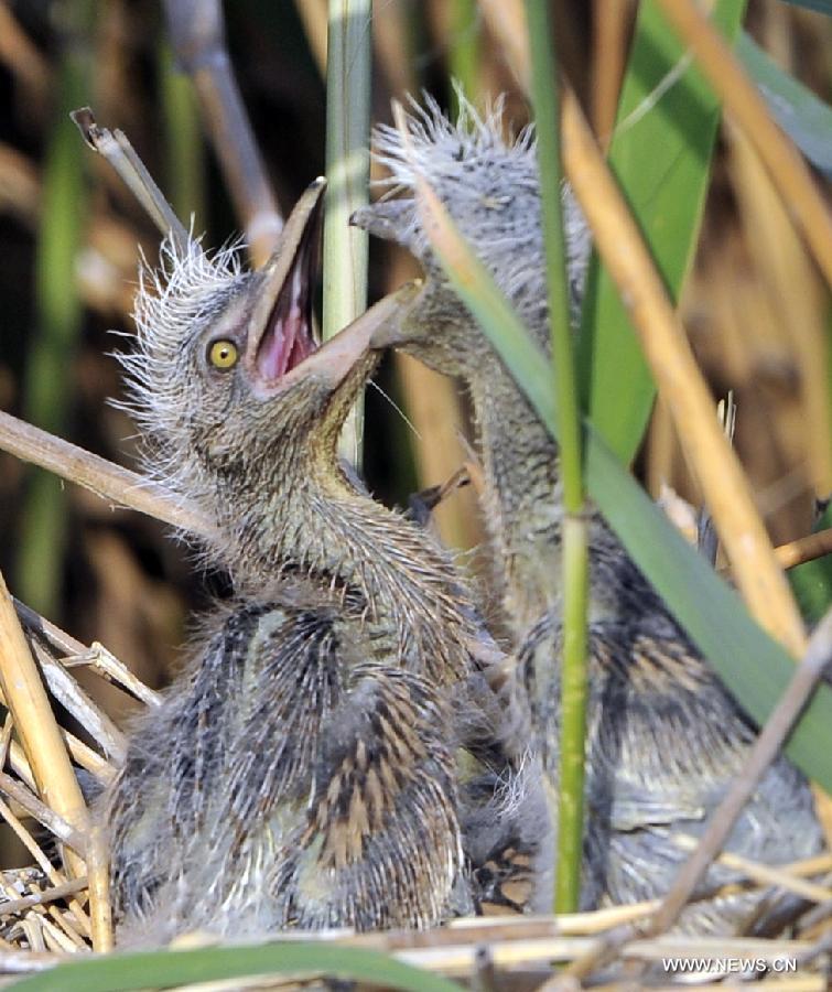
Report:
M142 274L138 347L122 356L129 407L150 472L215 516L235 486L291 486L306 448L334 450L375 363L360 327L324 346L313 327L324 185L306 190L257 271L237 250L166 241L160 270Z

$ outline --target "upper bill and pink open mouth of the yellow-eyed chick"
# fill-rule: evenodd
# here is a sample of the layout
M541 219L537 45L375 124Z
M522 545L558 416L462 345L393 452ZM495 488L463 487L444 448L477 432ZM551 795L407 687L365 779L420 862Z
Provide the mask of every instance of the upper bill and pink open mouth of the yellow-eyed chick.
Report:
M261 299L249 337L252 370L274 386L318 346L312 294L321 241L323 180L310 186L289 217L280 247L262 271Z

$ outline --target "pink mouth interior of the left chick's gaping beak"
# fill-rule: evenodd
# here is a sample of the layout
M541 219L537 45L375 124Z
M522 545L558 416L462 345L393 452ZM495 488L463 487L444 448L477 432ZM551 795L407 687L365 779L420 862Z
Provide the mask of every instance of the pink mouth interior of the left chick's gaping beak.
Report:
M301 246L260 338L255 360L267 382L282 378L317 348L312 333L312 248Z

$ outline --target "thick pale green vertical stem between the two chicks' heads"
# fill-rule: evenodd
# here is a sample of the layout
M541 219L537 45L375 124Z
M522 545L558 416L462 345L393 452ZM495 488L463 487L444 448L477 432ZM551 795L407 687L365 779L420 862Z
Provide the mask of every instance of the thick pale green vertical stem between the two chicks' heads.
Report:
M326 213L324 216L324 338L367 306L368 235L349 216L369 197L370 0L329 0L326 54ZM361 409L344 429L342 452L360 461Z

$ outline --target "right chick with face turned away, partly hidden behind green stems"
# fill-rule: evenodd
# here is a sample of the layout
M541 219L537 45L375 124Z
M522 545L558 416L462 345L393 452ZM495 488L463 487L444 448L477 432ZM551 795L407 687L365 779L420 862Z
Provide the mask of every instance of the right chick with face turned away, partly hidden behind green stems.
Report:
M562 508L558 449L444 277L421 228L423 176L508 295L541 348L549 347L540 183L533 134L501 138L500 107L485 119L464 105L456 126L435 104L408 118L407 141L376 132L385 181L400 195L363 208L353 223L399 242L422 262L423 289L382 337L429 366L461 377L472 398L484 465L484 510L500 569L506 621L528 690L530 723L558 788ZM573 313L583 290L588 235L564 194ZM755 731L707 661L603 519L590 520L590 700L585 907L661 896L746 759ZM806 780L771 765L727 848L776 863L819 850ZM698 893L736 881L714 866ZM770 893L766 894L766 898ZM726 932L750 925L763 897L734 895L687 910L682 926Z

